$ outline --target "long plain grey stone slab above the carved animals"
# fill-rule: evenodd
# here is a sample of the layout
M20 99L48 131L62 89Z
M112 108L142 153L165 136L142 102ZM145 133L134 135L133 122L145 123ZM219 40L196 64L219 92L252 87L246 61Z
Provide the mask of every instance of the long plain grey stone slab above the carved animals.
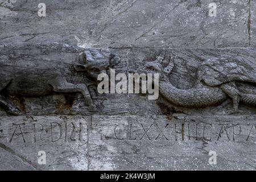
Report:
M0 1L1 42L52 42L84 47L247 47L247 0ZM75 38L76 36L76 38Z

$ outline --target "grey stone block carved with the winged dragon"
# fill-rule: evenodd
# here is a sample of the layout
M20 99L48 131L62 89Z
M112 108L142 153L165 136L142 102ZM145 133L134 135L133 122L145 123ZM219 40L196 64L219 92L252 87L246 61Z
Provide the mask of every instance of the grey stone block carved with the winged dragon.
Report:
M138 115L255 114L255 53L254 48L132 49L130 71L164 77L160 79L159 100L131 94L129 109ZM159 56L163 59L157 60ZM162 71L152 67L161 67ZM170 71L165 73L167 68Z

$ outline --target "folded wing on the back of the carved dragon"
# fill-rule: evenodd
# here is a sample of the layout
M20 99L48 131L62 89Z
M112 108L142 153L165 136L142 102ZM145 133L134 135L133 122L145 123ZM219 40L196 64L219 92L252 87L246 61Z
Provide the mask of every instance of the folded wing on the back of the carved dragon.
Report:
M248 60L208 59L200 65L197 77L209 86L229 81L256 83L256 64Z

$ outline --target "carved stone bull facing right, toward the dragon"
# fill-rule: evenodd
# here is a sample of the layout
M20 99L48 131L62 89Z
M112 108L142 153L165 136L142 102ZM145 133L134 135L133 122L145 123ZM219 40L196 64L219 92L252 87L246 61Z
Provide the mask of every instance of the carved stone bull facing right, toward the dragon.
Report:
M38 45L37 45L38 46ZM51 53L50 57L49 52ZM0 105L11 115L18 115L20 110L9 96L46 96L52 93L81 93L89 109L96 106L85 83L67 81L76 72L82 72L86 78L97 81L99 73L109 67L110 52L104 49L85 49L77 51L80 63L72 63L71 46L61 44L44 45L24 52L0 51ZM38 53L39 52L39 53ZM43 52L43 53L42 53ZM67 63L58 59L58 53L67 54ZM46 58L49 57L49 58ZM64 57L64 60L65 57ZM70 79L69 79L70 80Z

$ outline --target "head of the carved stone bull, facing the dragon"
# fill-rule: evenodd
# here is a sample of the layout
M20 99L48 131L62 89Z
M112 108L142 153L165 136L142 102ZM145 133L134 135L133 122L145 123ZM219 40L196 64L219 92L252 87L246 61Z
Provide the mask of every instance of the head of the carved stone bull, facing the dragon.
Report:
M112 55L106 49L85 49L80 55L80 62L83 64L74 65L75 70L84 72L85 76L92 81L97 81L100 73L106 73L106 69L111 66ZM114 57L117 60L117 57Z

